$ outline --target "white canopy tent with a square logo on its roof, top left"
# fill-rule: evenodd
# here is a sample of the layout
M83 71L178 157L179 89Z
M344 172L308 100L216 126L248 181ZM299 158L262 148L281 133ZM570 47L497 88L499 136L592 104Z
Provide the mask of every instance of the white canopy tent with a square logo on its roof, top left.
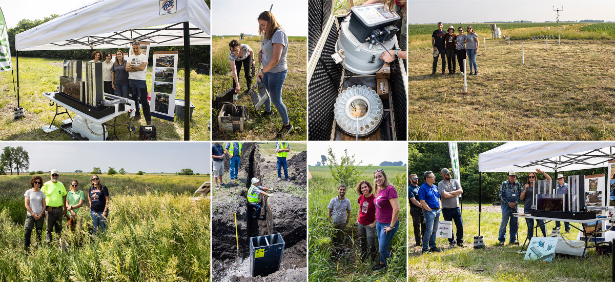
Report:
M130 48L133 41L150 42L153 47L184 46L185 105L189 107L189 46L212 43L210 22L204 0L100 0L15 34L15 49ZM189 113L186 110L184 116L185 140L189 138Z

